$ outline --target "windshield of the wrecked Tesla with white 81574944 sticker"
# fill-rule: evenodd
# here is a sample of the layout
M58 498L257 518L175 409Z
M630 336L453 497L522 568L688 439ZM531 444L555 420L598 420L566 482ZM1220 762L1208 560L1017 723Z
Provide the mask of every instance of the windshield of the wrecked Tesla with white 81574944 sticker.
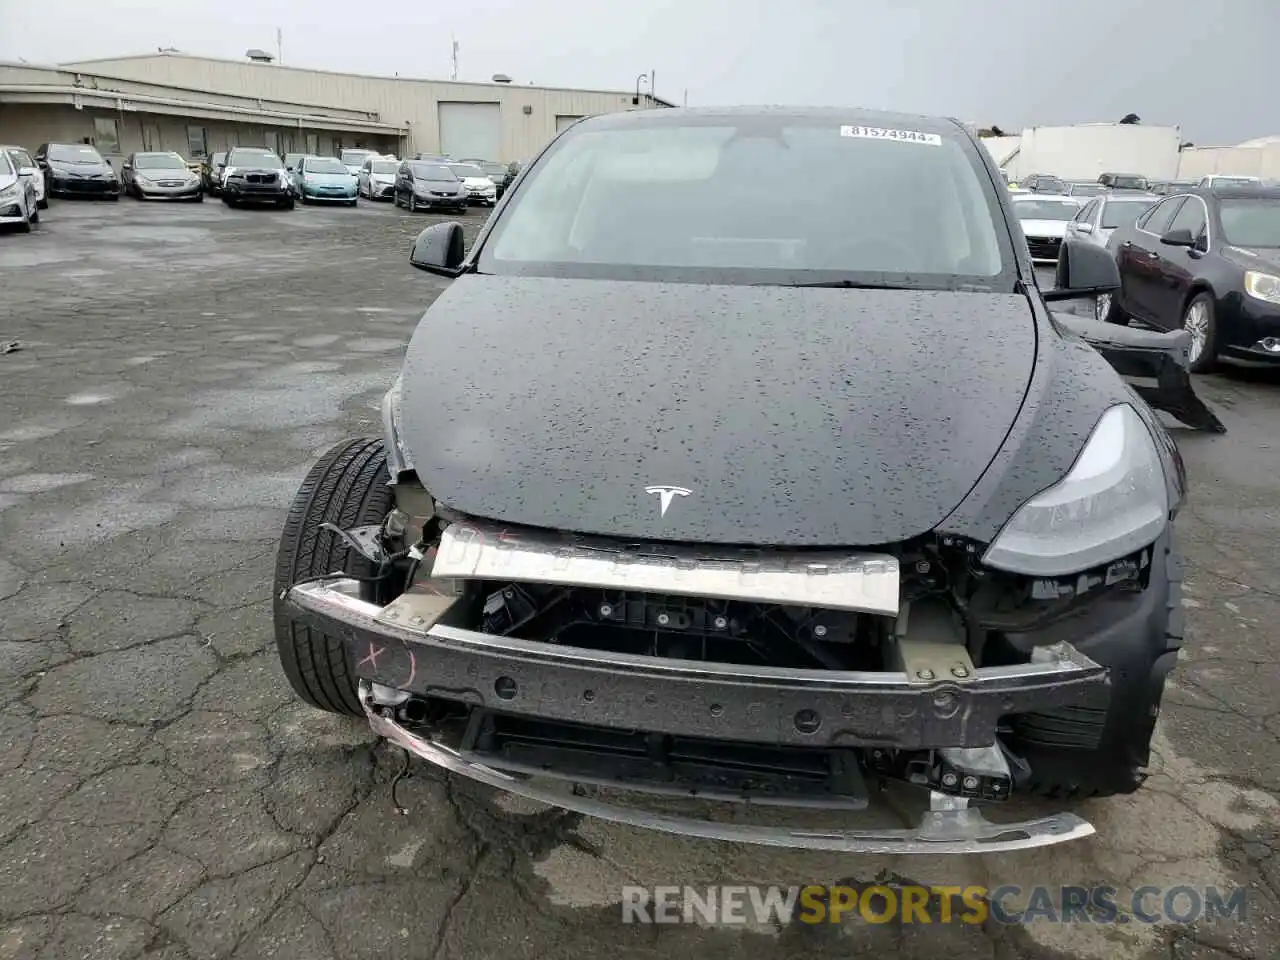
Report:
M957 137L828 118L577 125L526 174L515 205L494 224L480 269L980 285L1004 274L1011 257L1002 257L1009 247L993 225L995 198L983 192L966 146ZM823 187L795 187L805 182ZM886 273L900 276L891 282Z

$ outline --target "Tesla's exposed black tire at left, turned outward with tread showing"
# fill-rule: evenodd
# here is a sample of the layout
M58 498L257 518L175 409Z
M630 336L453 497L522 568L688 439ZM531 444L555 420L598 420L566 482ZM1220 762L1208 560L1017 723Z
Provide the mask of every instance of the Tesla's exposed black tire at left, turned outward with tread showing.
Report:
M387 483L387 452L380 439L346 440L311 468L289 507L275 561L275 645L280 666L294 692L329 713L364 716L347 650L289 617L280 593L300 580L342 570L370 576L374 570L360 554L320 524L342 529L380 524L394 506Z

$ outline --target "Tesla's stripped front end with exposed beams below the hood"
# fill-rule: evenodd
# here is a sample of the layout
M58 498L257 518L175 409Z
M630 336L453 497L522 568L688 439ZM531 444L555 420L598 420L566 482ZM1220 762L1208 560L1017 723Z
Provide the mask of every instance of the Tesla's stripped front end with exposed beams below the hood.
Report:
M403 591L383 603L335 575L285 602L340 637L372 728L422 759L604 819L774 846L989 852L1093 832L1071 813L993 823L977 804L1029 780L1020 739L1106 713L1128 627L1082 625L1146 603L1152 549L1030 580L951 538L878 553L632 544L440 517L416 484L394 489L381 529L348 534L411 564ZM863 810L890 781L928 797L916 826L782 822ZM671 797L765 806L771 826L654 809Z

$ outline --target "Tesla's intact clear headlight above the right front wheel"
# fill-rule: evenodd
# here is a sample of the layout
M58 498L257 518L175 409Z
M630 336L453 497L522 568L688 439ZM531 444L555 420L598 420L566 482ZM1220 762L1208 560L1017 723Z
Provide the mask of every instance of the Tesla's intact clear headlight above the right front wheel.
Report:
M1156 442L1121 403L1102 415L1068 475L1019 507L982 559L1029 576L1078 573L1147 547L1167 520Z

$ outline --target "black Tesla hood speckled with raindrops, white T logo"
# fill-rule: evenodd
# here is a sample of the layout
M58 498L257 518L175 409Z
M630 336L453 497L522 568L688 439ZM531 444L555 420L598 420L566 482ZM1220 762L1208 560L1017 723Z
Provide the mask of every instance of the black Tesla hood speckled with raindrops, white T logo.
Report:
M468 274L410 342L398 436L426 489L477 517L884 544L986 471L1036 335L1018 294Z

